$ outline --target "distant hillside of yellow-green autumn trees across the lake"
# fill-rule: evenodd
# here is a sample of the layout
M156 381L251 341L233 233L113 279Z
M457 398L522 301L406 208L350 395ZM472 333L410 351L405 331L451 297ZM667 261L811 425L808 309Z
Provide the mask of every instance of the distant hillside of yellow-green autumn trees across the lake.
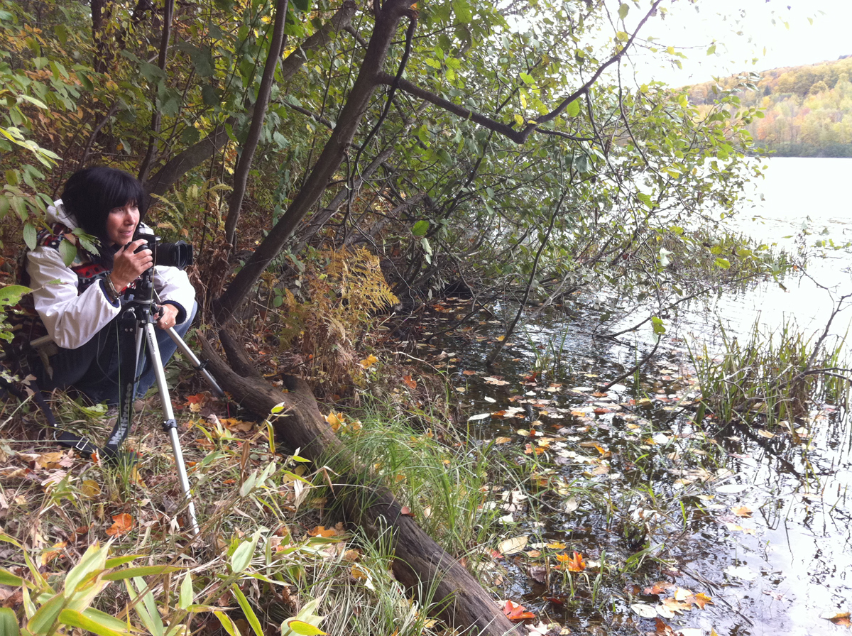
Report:
M757 91L740 93L766 113L748 127L757 146L781 157L852 157L852 56L759 75ZM714 84L689 87L689 99L710 104Z

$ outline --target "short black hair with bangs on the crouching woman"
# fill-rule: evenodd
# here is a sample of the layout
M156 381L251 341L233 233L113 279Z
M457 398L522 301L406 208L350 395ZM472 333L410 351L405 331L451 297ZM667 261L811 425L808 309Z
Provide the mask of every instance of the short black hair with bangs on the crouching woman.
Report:
M145 215L145 192L135 176L116 168L92 166L71 175L62 191L62 203L87 234L107 246L107 217L111 210L135 203Z

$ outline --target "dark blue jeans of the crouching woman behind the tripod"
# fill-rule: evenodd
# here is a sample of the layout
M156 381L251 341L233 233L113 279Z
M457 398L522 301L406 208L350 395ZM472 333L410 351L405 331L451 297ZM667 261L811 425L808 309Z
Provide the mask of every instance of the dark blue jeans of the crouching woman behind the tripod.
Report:
M192 311L187 319L176 325L175 330L181 338L187 334L193 323L198 303L193 303ZM160 358L166 364L177 349L168 332L164 329L154 329ZM123 355L134 355L135 351L119 351L118 347L118 318L114 318L95 336L76 349L59 348L59 352L49 358L52 374L44 369L43 364L37 364L33 370L38 386L45 391L55 388L76 389L84 393L95 404L107 402L109 405L118 404L118 392L121 387L120 369ZM144 397L145 393L156 381L151 358L146 357L145 367L139 376L136 387L136 397Z

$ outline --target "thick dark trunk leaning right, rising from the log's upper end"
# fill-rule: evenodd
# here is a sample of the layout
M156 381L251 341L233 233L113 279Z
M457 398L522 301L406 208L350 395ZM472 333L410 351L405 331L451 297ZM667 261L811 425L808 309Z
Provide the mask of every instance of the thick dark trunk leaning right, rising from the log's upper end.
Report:
M409 13L412 3L412 0L387 0L382 9L377 12L376 25L373 28L370 43L346 104L340 116L337 117L337 126L325 143L323 152L314 163L314 168L308 174L304 185L293 198L290 207L216 302L214 316L219 324L225 324L242 304L257 278L284 248L299 221L302 221L325 192L329 180L343 162L348 146L358 130L361 117L370 105L370 99L376 90L377 77L384 66L396 28L402 17Z

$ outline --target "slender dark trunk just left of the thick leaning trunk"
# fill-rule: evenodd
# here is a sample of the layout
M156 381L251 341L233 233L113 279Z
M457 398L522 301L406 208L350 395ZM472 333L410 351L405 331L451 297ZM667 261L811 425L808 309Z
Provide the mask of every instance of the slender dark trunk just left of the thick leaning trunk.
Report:
M275 22L273 23L272 38L269 40L269 54L266 64L263 66L263 77L261 85L257 89L257 100L255 101L254 113L251 116L249 134L245 138L242 152L239 154L237 168L233 171L233 191L228 203L227 217L225 219L225 240L234 244L236 239L237 221L239 221L239 210L243 207L245 188L249 183L249 171L251 162L255 158L257 144L261 140L263 121L266 119L266 110L269 104L269 95L272 95L272 84L275 79L275 67L281 56L281 47L284 44L284 25L287 21L287 0L278 0L275 3Z

